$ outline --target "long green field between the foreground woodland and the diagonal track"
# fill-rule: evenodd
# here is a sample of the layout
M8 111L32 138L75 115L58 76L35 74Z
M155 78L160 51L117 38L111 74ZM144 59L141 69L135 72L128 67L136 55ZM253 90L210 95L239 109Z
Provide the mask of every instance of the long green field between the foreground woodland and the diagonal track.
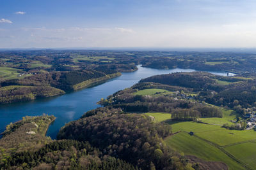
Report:
M164 139L167 145L175 148L185 155L195 155L204 160L225 161L230 169L244 169L240 164L228 157L220 149L203 141L196 136L190 136L187 132L179 132L173 136Z

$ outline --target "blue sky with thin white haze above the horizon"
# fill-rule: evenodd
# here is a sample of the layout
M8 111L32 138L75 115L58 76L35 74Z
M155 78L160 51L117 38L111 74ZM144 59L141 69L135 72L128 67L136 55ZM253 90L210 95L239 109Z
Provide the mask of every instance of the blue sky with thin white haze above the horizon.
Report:
M0 48L255 48L254 0L0 0Z

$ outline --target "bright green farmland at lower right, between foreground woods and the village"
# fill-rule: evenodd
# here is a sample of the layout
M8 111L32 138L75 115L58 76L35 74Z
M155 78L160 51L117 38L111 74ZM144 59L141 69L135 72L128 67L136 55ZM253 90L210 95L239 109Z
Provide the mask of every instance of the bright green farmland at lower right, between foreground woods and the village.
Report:
M166 113L147 113L157 122L168 120ZM232 110L223 109L223 118L205 118L205 122L228 122L236 118ZM202 119L202 118L201 118ZM231 123L231 122L230 122ZM201 124L196 122L168 121L173 132L178 132L164 141L185 155L195 155L207 161L225 160L229 169L254 169L256 167L256 132L228 130L221 125ZM220 123L219 123L220 124ZM194 132L190 136L188 132ZM241 153L243 151L243 153Z

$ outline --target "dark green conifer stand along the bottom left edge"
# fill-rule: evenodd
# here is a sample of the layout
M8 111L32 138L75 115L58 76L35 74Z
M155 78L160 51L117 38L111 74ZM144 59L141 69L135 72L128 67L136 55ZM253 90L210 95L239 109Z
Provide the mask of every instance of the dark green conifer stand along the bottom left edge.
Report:
M54 141L36 152L20 152L1 161L0 169L93 169L138 168L124 160L103 155L88 142Z

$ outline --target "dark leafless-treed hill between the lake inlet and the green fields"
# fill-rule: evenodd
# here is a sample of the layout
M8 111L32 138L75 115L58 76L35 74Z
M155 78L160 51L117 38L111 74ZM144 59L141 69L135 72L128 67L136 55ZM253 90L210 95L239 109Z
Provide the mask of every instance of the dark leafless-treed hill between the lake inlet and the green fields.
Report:
M99 113L95 115L96 112ZM102 153L141 169L189 169L193 166L164 145L163 138L172 134L170 125L156 124L146 115L111 112L109 115L106 110L90 111L85 117L65 125L58 139L89 141Z

